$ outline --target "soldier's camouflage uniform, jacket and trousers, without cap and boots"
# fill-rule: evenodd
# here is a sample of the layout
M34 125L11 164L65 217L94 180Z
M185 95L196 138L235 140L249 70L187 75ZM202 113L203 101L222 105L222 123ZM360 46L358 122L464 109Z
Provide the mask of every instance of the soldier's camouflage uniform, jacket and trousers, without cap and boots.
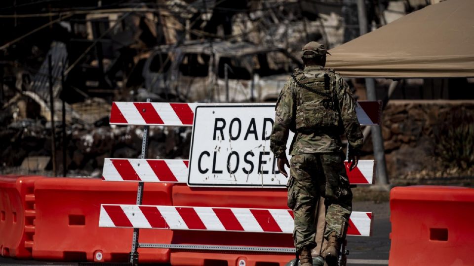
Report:
M298 86L294 79L290 78L278 97L275 124L270 138L273 153L277 158L282 158L286 156L288 131L295 132L289 150L292 158L287 187L288 207L294 212L293 238L297 250L316 246L315 212L320 196L325 198L326 205L325 237L331 232L336 232L338 237L344 237L352 212L352 191L343 164L345 156L340 135L346 133L351 149L361 148L363 136L356 117L356 101L346 81L330 69L307 66L303 71L296 69L294 75L296 80L305 84L306 79L318 81L325 74L331 84L330 90L326 92L334 96L332 103L338 105L332 106L332 109L340 113L336 121L332 121L336 126L297 130L297 123L301 124L301 119L324 120L324 114L330 109L307 109L297 113L297 107L305 103L305 97L311 94L315 97L315 93ZM316 82L306 84L311 87L315 86Z

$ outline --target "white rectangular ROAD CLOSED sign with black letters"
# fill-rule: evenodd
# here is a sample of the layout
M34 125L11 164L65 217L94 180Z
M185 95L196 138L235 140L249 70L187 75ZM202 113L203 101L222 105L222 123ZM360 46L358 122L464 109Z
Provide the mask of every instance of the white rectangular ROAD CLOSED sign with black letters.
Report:
M270 150L275 104L198 105L194 119L188 185L286 185Z

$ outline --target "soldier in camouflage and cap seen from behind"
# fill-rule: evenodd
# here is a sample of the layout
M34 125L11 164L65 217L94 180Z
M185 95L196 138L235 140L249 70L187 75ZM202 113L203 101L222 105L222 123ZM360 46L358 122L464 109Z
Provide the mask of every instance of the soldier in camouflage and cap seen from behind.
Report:
M322 252L325 265L337 265L352 212L352 191L344 166L340 135L349 141L350 170L357 166L362 132L356 116L356 101L346 81L332 69L325 69L324 46L312 41L303 47L304 70L296 69L276 102L275 124L270 147L278 170L288 177L288 207L293 210L293 239L301 266L311 266L316 247L315 212L320 196L326 207ZM286 158L288 130L295 133Z

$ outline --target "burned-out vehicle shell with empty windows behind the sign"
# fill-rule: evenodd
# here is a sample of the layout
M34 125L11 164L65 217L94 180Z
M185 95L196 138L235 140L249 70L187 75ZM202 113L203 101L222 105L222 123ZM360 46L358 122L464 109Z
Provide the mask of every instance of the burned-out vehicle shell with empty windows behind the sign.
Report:
M286 50L229 41L156 47L143 68L145 88L165 100L276 101L301 62Z

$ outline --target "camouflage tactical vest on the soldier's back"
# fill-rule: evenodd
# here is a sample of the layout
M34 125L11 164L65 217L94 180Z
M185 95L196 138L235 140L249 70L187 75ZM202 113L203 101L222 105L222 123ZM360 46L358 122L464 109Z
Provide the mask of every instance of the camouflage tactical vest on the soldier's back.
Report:
M296 103L295 126L297 131L337 130L340 111L336 95L335 78L326 72L323 77L307 77L303 71L293 75Z

